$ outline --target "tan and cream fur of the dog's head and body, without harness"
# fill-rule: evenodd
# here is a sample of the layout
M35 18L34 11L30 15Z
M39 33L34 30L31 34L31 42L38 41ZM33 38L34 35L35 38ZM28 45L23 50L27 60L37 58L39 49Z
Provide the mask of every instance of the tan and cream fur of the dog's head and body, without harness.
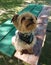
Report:
M22 20L23 17L25 18L25 20ZM31 18L33 19L34 23L27 26L30 23L29 19L31 19ZM21 15L15 15L13 17L12 21L13 21L14 26L16 27L16 29L18 29L19 32L21 32L21 33L31 33L32 32L34 35L34 30L36 28L36 17L33 14L31 14L30 12L26 12L26 13L23 13ZM26 42L24 42L24 41L21 41L19 39L18 34L16 37L17 37L15 40L16 41L16 43L15 43L16 50L22 51L24 49L27 49L31 53L32 50L30 51L30 49L36 43L36 37L34 37L32 43L30 45L25 44Z

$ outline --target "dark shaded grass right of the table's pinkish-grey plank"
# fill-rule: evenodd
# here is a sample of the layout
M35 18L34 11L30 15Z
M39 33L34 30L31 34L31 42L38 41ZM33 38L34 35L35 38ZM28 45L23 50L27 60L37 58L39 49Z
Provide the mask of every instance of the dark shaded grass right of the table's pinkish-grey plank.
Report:
M48 23L48 30L51 28L51 22ZM42 65L50 65L51 64L51 32L46 33L46 41L45 45L42 48L42 53L39 59L40 64Z

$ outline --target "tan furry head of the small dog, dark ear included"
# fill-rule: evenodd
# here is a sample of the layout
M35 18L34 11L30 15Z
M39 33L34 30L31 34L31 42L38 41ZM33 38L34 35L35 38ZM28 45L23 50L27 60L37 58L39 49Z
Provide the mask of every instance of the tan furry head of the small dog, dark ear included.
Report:
M29 12L15 15L12 21L14 26L22 33L29 33L36 28L36 17Z

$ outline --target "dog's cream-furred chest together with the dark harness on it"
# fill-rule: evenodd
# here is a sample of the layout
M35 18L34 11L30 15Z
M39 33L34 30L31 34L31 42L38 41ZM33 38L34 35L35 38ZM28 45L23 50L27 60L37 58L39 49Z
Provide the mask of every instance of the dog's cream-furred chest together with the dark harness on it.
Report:
M30 48L32 47L35 42L36 42L36 38L34 35L28 35L28 36L24 36L24 35L20 35L16 33L16 42L17 42L17 48Z

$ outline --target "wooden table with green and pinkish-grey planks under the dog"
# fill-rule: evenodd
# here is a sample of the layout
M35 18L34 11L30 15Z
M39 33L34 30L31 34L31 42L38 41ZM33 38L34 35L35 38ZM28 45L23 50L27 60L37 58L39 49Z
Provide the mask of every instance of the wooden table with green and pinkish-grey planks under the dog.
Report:
M42 23L37 25L36 28L37 43L34 46L35 55L20 55L15 50L12 37L15 35L16 29L13 26L13 23L11 23L11 19L0 25L0 52L9 57L14 56L16 58L19 58L31 65L33 65L34 63L36 65L41 53L41 48L44 46L44 41L46 38L46 28L48 24L48 12L50 9L51 7L47 5L29 4L22 11L18 12L19 15L24 12L31 12L37 17L37 23Z

